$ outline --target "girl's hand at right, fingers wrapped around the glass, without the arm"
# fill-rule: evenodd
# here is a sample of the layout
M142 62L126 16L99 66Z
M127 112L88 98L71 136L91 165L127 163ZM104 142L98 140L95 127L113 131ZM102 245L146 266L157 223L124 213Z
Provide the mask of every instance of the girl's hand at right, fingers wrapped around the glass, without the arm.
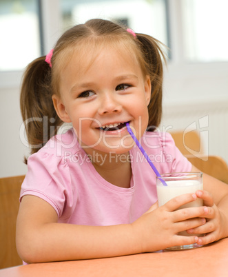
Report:
M227 223L225 216L215 205L213 197L205 190L198 190L196 195L198 198L203 199L204 205L206 206L204 207L205 215L203 216L206 218L206 223L196 228L188 229L187 232L189 234L205 234L205 236L198 238L198 244L203 245L224 238L226 236L225 225Z

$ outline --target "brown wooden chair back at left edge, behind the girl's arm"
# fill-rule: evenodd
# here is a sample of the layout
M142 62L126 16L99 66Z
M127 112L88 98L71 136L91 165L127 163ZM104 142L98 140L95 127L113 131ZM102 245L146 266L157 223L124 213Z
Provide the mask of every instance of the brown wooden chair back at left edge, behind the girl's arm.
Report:
M16 249L19 194L25 176L0 178L0 269L22 265Z

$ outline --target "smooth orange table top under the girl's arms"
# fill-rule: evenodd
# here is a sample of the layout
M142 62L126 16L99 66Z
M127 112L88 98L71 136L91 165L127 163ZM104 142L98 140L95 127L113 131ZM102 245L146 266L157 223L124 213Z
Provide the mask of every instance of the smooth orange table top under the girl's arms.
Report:
M189 250L10 267L0 277L228 276L228 238Z

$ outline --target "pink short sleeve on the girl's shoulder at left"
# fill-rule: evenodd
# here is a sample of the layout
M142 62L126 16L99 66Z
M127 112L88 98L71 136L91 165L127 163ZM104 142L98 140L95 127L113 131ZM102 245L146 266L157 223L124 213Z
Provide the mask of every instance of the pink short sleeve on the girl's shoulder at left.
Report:
M63 158L43 151L28 158L28 173L21 186L20 201L25 195L38 196L52 205L59 217L67 218L76 201L72 190L68 164Z

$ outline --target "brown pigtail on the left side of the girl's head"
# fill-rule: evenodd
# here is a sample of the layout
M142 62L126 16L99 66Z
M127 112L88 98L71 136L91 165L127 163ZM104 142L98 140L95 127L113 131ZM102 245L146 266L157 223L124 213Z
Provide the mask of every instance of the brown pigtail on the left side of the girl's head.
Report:
M21 85L21 114L31 154L37 152L63 122L52 103L51 68L40 57L28 65ZM27 158L25 158L27 163Z

